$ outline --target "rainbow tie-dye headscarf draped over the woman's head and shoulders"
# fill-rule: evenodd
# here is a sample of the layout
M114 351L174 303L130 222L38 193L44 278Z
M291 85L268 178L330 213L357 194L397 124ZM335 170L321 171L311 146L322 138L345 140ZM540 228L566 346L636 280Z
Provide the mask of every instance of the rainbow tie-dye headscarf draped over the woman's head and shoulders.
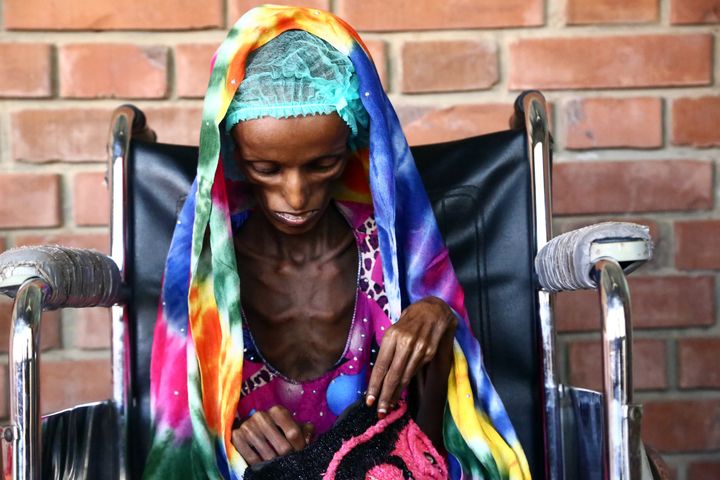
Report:
M370 117L370 145L346 169L340 200L372 202L391 319L426 296L459 317L444 435L453 479L529 479L527 460L483 367L430 203L367 48L320 10L264 6L246 13L215 56L205 96L197 178L173 235L151 365L154 437L145 478L240 479L231 443L240 399L243 335L231 213L247 208L227 180L221 130L248 54L287 30L305 30L350 58ZM233 216L234 219L241 218Z

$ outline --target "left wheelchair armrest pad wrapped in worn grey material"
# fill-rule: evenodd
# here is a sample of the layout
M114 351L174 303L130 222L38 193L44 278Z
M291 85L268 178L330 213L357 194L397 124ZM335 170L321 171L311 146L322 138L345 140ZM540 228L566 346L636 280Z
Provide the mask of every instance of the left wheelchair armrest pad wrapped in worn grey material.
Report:
M27 280L47 285L45 309L109 307L121 299L117 265L92 250L59 246L24 247L0 254L0 293L14 297Z

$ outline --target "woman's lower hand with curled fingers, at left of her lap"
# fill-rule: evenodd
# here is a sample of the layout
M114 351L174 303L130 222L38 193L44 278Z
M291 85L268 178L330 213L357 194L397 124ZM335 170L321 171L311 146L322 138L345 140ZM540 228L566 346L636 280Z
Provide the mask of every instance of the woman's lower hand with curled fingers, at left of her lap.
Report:
M232 442L249 465L305 448L315 433L311 423L299 424L290 411L275 405L253 413L233 430Z

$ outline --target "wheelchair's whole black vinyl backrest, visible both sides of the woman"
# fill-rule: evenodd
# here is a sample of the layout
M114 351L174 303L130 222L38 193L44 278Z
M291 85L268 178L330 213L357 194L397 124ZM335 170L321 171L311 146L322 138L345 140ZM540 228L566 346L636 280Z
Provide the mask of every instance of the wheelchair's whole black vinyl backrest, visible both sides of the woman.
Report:
M487 368L543 476L536 295L525 135L507 131L413 149L466 295ZM196 147L134 141L128 164L130 470L150 441L149 366L165 256L195 174Z

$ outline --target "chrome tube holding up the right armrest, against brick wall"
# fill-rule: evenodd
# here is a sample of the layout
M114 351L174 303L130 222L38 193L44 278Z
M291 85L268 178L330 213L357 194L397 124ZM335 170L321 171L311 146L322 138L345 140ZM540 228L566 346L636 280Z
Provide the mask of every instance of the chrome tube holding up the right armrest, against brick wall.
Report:
M640 417L632 383L630 293L622 267L611 258L595 262L602 310L605 478L639 480Z

